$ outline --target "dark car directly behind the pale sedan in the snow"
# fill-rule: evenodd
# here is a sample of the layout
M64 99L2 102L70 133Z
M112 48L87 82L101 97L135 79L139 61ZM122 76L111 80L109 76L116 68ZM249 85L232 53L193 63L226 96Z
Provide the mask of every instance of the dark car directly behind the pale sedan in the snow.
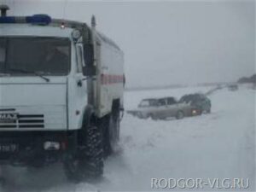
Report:
M179 102L188 103L191 107L196 108L200 113L211 113L212 103L204 94L195 93L184 95Z

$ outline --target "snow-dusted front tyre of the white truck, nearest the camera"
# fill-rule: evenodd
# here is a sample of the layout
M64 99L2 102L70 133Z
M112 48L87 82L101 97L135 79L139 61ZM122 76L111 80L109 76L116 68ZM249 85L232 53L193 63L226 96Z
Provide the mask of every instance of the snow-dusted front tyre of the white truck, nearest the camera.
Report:
M85 145L64 162L67 179L79 183L84 179L94 179L103 173L102 131L96 125L86 129Z

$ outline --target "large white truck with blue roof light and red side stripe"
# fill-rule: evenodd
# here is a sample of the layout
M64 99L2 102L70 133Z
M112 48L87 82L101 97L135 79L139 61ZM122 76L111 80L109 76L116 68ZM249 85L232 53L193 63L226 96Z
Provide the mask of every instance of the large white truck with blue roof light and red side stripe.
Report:
M103 172L119 140L124 56L91 26L49 15L0 17L0 166L62 162L67 178Z

